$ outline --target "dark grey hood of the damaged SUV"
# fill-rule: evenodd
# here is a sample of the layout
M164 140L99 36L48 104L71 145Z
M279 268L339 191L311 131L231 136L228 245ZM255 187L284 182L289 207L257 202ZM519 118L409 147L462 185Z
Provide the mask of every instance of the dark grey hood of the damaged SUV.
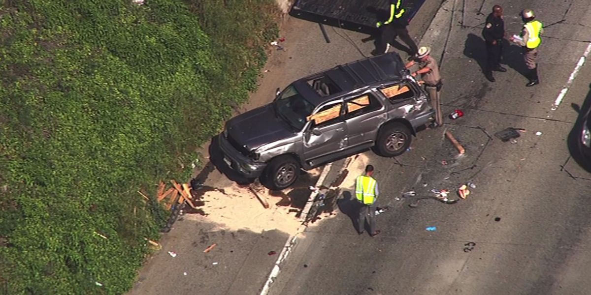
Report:
M271 104L233 117L227 128L228 137L241 147L246 146L247 151L294 134L293 129L275 115Z

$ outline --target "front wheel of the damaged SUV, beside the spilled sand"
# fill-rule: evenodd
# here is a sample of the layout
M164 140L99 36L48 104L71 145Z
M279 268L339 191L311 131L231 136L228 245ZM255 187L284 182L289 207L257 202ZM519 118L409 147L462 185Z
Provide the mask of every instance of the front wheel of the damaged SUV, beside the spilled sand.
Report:
M292 156L278 156L269 162L261 177L268 189L280 191L293 185L300 176L300 163Z

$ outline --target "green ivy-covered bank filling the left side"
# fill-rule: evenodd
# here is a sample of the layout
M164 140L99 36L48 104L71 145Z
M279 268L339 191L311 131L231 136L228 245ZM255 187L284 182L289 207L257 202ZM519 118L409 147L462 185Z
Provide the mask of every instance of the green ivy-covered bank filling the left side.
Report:
M129 290L167 218L137 191L189 179L256 89L276 14L273 0L4 1L0 294Z

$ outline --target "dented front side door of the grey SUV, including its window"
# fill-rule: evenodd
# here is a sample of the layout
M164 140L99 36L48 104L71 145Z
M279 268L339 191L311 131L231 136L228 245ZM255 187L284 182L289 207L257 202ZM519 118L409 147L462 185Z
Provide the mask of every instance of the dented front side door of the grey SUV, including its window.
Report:
M343 118L343 100L330 101L307 118L304 131L304 158L316 159L347 148L347 124Z

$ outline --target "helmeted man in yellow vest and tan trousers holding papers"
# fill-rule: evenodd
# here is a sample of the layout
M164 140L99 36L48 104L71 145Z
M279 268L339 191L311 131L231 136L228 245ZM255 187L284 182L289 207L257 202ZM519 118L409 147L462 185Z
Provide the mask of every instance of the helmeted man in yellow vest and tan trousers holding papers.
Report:
M524 11L521 12L521 19L524 22L521 35L514 35L510 37L509 40L523 47L525 65L527 65L528 68L528 73L525 74L525 77L529 80L525 86L531 87L540 84L537 60L538 46L540 46L542 42L540 35L543 34L544 28L542 23L535 19L534 11L531 9L524 9Z

